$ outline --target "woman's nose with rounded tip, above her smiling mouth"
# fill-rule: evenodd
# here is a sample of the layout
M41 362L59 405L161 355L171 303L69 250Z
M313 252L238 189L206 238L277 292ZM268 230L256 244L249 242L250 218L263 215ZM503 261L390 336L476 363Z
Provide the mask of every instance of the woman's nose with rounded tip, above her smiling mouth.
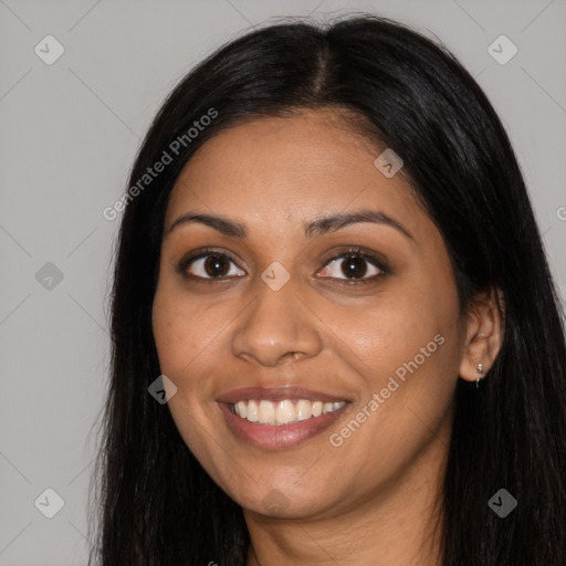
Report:
M316 356L322 340L316 316L297 296L292 280L279 291L259 281L255 298L232 335L234 356L274 367Z

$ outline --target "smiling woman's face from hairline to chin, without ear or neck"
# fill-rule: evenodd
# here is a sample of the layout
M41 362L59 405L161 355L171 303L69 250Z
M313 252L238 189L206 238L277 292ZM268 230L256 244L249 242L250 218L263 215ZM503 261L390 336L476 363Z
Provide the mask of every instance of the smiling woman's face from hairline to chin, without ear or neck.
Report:
M221 132L166 213L169 409L211 478L266 515L344 513L438 475L450 434L464 336L447 249L399 164L378 168L385 148L333 117Z

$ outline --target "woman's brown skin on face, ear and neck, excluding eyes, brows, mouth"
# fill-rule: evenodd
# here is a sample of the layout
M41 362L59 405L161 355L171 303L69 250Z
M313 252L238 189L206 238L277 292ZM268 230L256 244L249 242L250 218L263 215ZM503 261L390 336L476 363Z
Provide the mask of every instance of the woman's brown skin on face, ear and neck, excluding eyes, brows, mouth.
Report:
M352 118L352 116L350 116ZM382 151L348 127L348 113L304 111L226 129L187 164L169 201L153 324L161 371L177 386L169 409L189 449L244 510L248 564L438 565L440 484L459 378L475 380L501 346L501 311L489 293L460 314L440 232L401 169L386 178ZM352 123L352 122L350 122ZM379 210L410 232L358 222L306 238L315 218ZM190 222L229 217L247 238ZM340 256L359 245L368 284L352 285ZM184 256L226 252L223 283L187 279ZM348 255L346 254L346 258ZM273 291L274 261L291 279ZM202 261L186 273L213 279ZM363 275L364 276L364 275ZM339 447L329 442L420 348L444 340ZM350 399L329 429L284 450L235 437L216 398L247 386L301 385ZM280 502L273 510L269 503Z

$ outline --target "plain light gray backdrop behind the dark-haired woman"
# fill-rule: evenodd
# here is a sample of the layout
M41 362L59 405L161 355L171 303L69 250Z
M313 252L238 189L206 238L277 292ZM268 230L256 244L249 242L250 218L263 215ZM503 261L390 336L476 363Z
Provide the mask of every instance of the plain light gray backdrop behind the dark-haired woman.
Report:
M126 188L164 97L251 25L354 10L429 30L476 77L513 140L566 296L564 0L0 0L0 565L86 562L119 221L103 210ZM51 65L34 52L39 45L53 55L48 34L65 50ZM518 49L506 64L488 51L501 34ZM509 53L509 45L494 49ZM55 510L49 488L64 500L53 518L40 512Z

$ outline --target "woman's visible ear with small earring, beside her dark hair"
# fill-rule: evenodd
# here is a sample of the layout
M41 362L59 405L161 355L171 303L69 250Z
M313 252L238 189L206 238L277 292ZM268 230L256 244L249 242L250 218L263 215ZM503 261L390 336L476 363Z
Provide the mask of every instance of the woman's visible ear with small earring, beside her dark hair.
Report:
M473 301L467 313L460 377L467 381L483 378L491 369L503 343L503 294L492 287ZM478 371L479 364L482 371Z

